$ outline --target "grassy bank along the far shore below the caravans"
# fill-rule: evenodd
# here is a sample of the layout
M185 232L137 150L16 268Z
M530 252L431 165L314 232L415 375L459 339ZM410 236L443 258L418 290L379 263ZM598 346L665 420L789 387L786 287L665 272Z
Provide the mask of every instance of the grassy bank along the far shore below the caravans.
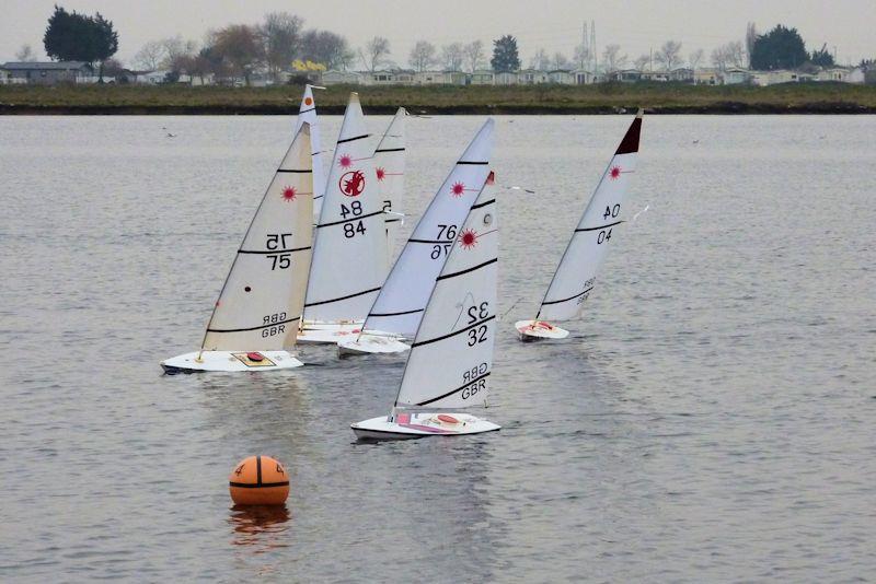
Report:
M400 105L428 114L611 114L638 106L655 114L876 114L876 86L841 83L333 86L318 94L320 109L343 113L350 91L372 114ZM300 95L296 86L0 85L0 114L293 114Z

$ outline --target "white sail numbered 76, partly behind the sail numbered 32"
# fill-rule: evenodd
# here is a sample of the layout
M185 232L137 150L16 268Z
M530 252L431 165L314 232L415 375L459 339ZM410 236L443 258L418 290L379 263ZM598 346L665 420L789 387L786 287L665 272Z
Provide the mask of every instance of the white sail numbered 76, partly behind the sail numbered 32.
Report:
M395 260L364 330L413 338L435 278L486 182L494 125L492 119L484 124L436 192Z

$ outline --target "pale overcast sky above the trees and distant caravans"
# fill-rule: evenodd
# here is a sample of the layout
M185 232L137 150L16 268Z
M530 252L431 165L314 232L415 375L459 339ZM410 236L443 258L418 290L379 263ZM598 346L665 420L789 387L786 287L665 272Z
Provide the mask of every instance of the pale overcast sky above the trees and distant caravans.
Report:
M506 33L517 36L523 65L539 48L570 57L584 21L596 21L600 52L616 43L631 60L670 38L682 42L685 57L703 48L707 58L715 46L742 40L749 21L760 32L794 26L809 49L835 46L842 63L876 57L876 0L0 0L0 62L25 43L45 57L43 33L55 3L112 20L116 57L128 63L148 40L176 34L200 40L208 28L255 23L272 11L298 14L354 47L385 36L399 65L420 38L437 45L480 38L492 47Z

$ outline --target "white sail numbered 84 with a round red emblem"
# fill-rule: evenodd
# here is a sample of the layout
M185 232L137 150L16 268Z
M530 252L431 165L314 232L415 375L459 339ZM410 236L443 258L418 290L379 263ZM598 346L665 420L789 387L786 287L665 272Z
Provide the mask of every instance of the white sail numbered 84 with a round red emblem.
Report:
M353 93L316 225L306 322L362 320L387 277L387 227L368 138Z

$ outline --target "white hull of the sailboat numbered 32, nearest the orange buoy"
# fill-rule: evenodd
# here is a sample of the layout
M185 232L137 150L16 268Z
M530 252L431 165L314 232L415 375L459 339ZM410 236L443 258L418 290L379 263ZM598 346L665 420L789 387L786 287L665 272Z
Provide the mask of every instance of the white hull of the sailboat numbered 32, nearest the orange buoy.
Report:
M359 440L410 440L426 436L461 436L495 432L502 427L468 413L417 412L371 418L350 424Z

